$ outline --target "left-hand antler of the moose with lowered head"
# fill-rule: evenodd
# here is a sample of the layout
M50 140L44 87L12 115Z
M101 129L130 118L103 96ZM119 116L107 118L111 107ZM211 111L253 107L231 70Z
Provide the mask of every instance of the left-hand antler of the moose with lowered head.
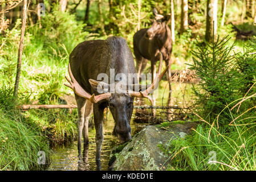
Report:
M70 74L71 80L67 76L65 76L65 78L67 79L68 82L70 82L70 85L68 84L64 84L64 85L74 90L74 93L77 94L78 96L86 98L87 100L91 101L94 104L96 104L101 100L108 99L109 97L111 97L111 93L109 92L99 94L97 96L95 96L94 94L92 94L92 96L88 94L86 90L84 90L82 86L79 85L79 83L76 81L75 77L73 76L70 68L70 63L68 63L68 73Z

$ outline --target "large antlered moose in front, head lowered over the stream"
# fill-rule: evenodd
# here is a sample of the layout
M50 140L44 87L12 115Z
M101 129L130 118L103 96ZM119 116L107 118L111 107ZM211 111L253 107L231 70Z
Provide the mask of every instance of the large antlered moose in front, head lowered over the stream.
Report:
M84 146L88 145L88 120L92 111L94 112L94 123L96 130L96 161L100 161L101 144L103 143L103 115L104 108L109 110L115 120L113 134L120 142L131 139L130 121L133 112L133 100L135 97L148 96L158 86L165 69L161 73L162 56L160 53L160 65L157 77L147 88L137 83L135 64L132 52L123 38L109 37L106 40L84 41L74 48L70 54L68 73L71 80L66 77L74 90L76 103L78 105L78 152L81 156L82 135ZM99 76L115 75L113 83L103 80ZM118 78L123 74L124 77ZM134 74L135 79L125 82L129 74ZM97 81L101 79L101 81ZM138 86L139 85L139 86ZM120 92L121 91L121 92Z

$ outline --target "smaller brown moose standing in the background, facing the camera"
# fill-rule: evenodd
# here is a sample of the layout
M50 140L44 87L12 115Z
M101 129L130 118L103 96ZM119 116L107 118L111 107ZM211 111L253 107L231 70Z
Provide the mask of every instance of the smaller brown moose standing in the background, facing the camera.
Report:
M159 52L162 53L164 57L165 64L168 68L168 82L169 82L169 98L168 105L170 105L171 96L171 70L170 55L172 53L172 37L170 34L170 28L166 24L167 18L165 16L157 13L157 10L153 9L153 14L155 19L150 28L143 28L135 33L133 36L133 49L136 57L136 68L139 75L145 69L147 62L151 61L151 73L152 81L156 74L156 62L159 60ZM155 105L155 99L154 99Z

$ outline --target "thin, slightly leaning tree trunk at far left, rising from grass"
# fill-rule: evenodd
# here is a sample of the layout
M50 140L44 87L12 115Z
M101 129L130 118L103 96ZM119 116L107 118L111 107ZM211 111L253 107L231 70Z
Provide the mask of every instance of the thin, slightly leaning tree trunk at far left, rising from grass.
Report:
M27 0L24 0L23 3L24 5L23 5L23 11L22 11L21 39L19 41L19 49L18 49L18 63L17 63L17 73L16 73L16 79L15 79L15 85L14 85L14 96L18 95L19 76L21 75L23 42L24 42L26 19L27 19Z

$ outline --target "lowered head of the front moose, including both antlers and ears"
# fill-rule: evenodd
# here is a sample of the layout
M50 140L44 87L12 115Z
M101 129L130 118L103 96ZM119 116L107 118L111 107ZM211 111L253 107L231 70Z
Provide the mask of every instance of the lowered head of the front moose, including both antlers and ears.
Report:
M113 134L119 138L120 142L126 142L131 139L131 127L130 121L132 118L133 112L133 100L134 97L148 98L151 103L152 97L149 94L153 93L154 90L157 89L159 81L162 76L164 76L167 68L161 73L162 67L162 54L160 52L160 64L157 71L156 78L153 80L153 83L148 86L147 89L141 90L143 86L139 84L122 84L121 81L115 83L114 92L108 92L111 90L111 84L107 84L103 81L96 81L89 79L90 85L92 89L94 89L97 93L101 93L97 96L95 94L90 95L79 85L78 81L75 80L75 77L72 75L70 64L68 64L68 73L70 74L71 80L66 77L67 81L70 82L70 85L65 84L74 90L75 94L80 97L86 98L93 104L97 102L107 100L109 104L109 110L113 115L113 119L115 120L115 128L113 130ZM139 89L135 89L139 88ZM106 91L107 90L107 91Z

